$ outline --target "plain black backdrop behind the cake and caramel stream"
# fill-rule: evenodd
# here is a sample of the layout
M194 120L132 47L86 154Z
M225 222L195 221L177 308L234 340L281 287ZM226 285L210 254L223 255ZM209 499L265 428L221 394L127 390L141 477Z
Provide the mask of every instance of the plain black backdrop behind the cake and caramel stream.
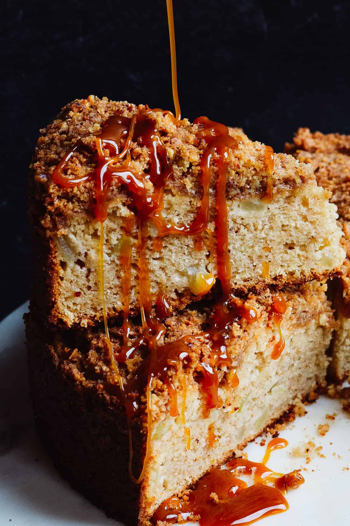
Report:
M0 318L28 297L27 173L39 128L89 94L173 109L165 0L2 4ZM348 2L174 0L183 116L281 150L350 133Z

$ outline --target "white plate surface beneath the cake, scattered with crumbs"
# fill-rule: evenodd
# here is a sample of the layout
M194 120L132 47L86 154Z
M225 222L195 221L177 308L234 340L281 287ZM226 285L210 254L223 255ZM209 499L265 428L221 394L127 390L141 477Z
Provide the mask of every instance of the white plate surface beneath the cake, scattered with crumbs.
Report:
M0 323L0 525L118 526L57 474L36 437L22 320L26 310L24 304ZM263 519L258 523L262 526L350 523L350 470L344 469L350 468L350 415L326 397L307 411L281 433L289 446L272 452L268 462L278 472L302 468L305 484L289 492L287 512ZM326 420L326 413L334 412L335 420ZM331 429L321 437L317 427L325 422ZM306 464L291 451L309 440L322 446L325 458L316 455ZM250 460L263 457L265 448L258 442L246 448Z

